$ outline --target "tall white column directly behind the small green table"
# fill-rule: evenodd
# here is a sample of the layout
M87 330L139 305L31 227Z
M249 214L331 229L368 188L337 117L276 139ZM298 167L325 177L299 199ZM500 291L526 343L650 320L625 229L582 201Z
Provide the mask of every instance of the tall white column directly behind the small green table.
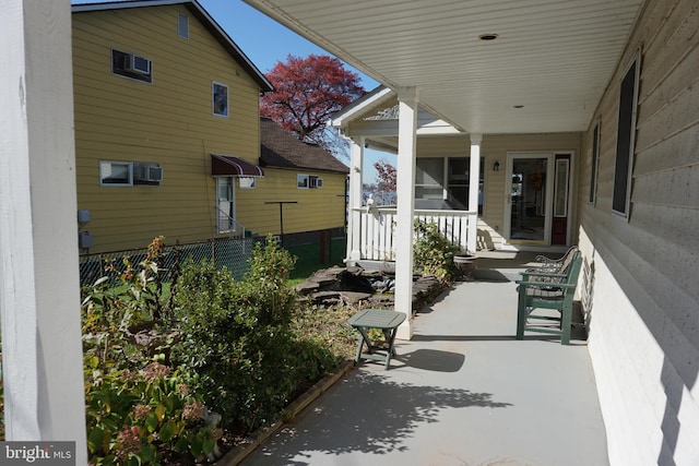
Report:
M398 338L411 339L413 308L413 217L415 210L415 156L417 132L418 92L415 87L398 91L398 212L395 232L395 311L405 312L407 319L398 331Z

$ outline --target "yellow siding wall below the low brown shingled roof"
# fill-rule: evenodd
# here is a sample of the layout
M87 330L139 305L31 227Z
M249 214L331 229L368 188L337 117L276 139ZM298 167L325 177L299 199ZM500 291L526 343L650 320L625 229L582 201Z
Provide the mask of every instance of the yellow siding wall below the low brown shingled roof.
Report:
M322 178L322 188L296 188L297 174ZM296 201L297 204L283 206L285 234L343 227L345 178L344 174L266 167L264 178L258 179L256 189L237 189L238 219L246 229L261 235L277 235L280 206L265 202Z

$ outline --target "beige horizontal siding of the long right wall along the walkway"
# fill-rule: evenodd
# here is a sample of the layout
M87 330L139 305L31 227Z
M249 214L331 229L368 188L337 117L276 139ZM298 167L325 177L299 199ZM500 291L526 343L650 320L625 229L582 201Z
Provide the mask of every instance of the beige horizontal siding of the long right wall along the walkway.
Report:
M585 311L612 464L699 458L699 9L649 2L597 108L597 203L580 203ZM631 204L612 214L619 80L641 48ZM589 158L592 127L584 135ZM590 163L582 184L589 188ZM588 181L585 181L585 179Z

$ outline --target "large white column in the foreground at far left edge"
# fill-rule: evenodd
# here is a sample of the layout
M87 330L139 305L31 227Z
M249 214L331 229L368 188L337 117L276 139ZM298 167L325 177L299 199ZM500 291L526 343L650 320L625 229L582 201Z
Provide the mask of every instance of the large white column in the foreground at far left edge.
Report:
M0 0L0 311L8 440L86 457L71 7Z

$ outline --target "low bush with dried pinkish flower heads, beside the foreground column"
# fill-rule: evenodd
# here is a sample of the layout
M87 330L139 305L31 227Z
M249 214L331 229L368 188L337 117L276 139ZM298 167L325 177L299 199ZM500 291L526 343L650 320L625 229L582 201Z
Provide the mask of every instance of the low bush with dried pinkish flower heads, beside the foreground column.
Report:
M94 465L158 464L164 454L214 451L222 431L205 426L189 381L156 361L140 371L105 371L85 358L87 447Z

